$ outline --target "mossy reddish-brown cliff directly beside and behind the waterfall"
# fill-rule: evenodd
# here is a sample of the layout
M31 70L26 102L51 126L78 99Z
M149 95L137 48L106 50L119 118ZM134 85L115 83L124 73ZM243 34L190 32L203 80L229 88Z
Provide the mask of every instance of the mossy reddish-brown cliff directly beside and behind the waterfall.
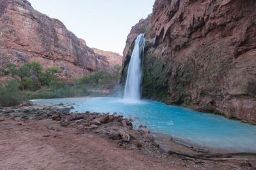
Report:
M256 123L256 1L156 0L147 20L143 96Z

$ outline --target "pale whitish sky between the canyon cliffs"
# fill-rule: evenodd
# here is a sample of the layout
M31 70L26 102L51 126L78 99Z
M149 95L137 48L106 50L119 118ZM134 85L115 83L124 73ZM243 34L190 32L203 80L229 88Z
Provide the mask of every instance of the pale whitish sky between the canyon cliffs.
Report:
M131 27L152 13L154 0L29 0L58 18L90 47L122 54Z

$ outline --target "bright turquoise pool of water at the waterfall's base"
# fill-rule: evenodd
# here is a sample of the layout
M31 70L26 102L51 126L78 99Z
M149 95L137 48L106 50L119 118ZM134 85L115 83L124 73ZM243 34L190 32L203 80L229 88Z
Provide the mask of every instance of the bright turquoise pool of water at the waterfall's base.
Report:
M86 97L33 100L35 104L76 104L72 112L118 113L132 118L138 127L147 125L153 133L170 135L191 144L233 150L256 152L256 126L228 120L219 115L200 113L156 101L124 101L115 97Z

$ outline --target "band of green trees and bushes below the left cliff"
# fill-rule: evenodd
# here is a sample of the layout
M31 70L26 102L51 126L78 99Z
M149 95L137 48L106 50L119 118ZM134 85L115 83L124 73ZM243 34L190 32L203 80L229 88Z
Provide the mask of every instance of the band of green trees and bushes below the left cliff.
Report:
M60 67L48 67L43 70L40 62L28 62L17 67L7 63L7 69L0 67L0 76L11 76L13 79L0 84L0 105L16 106L27 99L47 99L74 96L101 96L99 90L113 87L120 76L120 66L115 66L111 71L98 71L90 76L76 78L73 82L57 81L61 73ZM22 91L21 91L21 90ZM92 89L89 90L89 89Z

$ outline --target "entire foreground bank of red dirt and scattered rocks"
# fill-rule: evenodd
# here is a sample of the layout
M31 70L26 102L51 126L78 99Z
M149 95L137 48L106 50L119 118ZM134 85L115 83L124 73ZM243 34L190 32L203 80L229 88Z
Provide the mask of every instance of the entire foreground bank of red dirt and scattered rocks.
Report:
M129 125L131 122L120 116L100 113L74 114L68 111L67 108L51 107L42 110L24 108L2 111L0 170L255 169L256 167L255 155L232 157L232 159L242 159L236 161L212 161L177 154L170 155L154 143L149 134L145 134L141 129L132 129ZM108 118L108 122L104 122L105 118ZM104 123L98 124L95 120ZM126 134L122 138L120 135L112 134L112 137L118 138L113 139L110 138L110 132ZM127 141L125 135L129 136ZM170 142L168 147L174 152L196 154L176 143Z

